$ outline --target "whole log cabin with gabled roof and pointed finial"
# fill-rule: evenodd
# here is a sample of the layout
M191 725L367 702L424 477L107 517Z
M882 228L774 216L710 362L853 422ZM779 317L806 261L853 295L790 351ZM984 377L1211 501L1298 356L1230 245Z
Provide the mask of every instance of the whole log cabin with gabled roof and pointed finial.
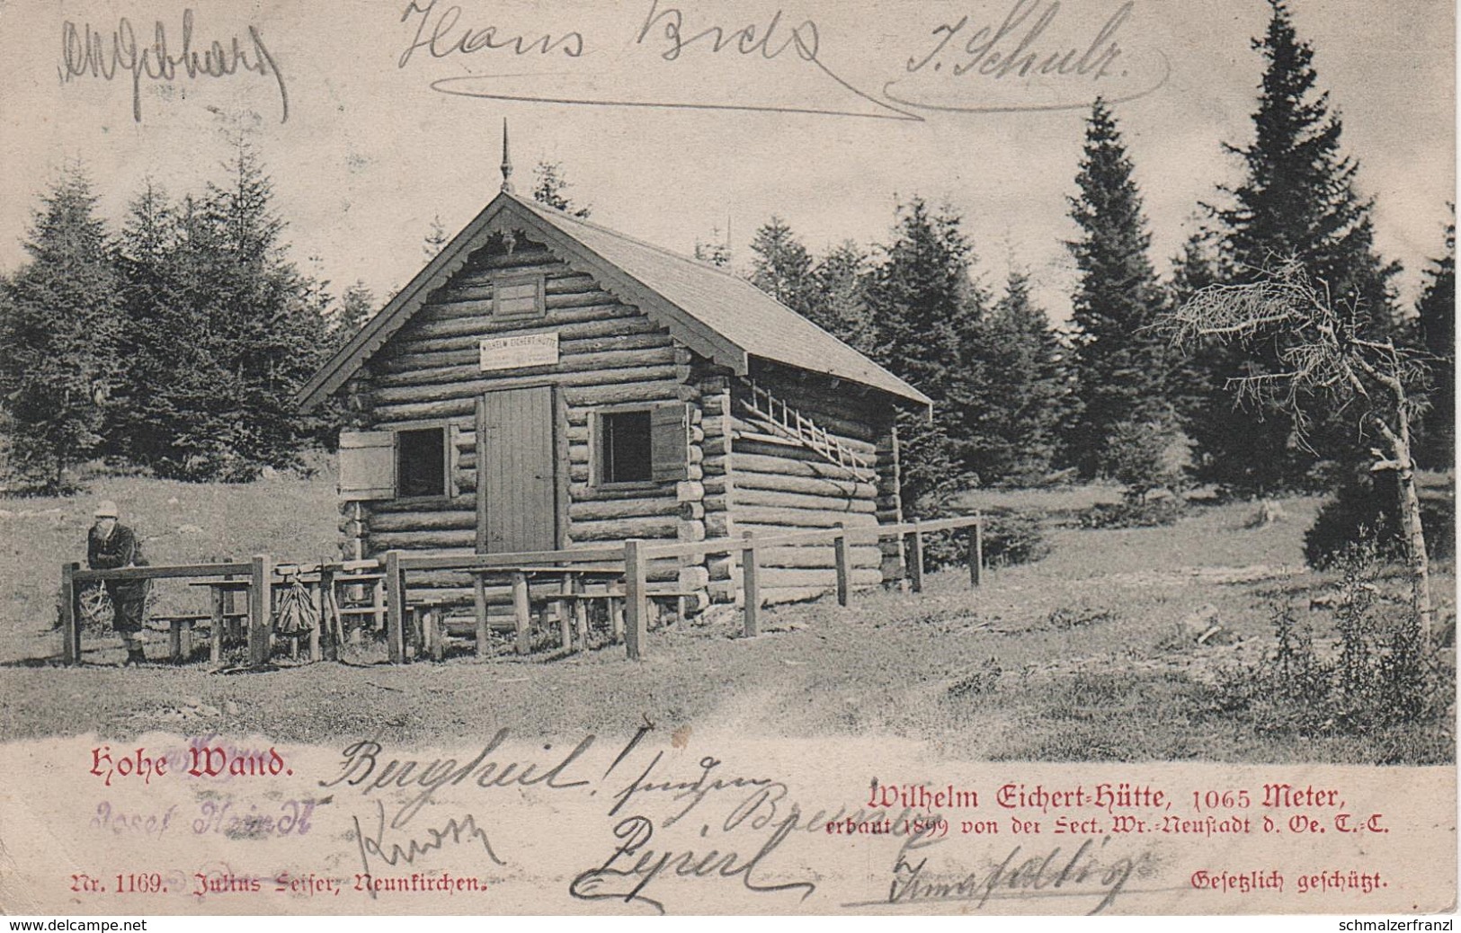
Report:
M501 191L297 399L345 400L343 558L901 521L894 416L926 396L722 269L519 196L503 149ZM897 539L850 556L856 587L901 577ZM834 583L827 546L760 565L767 602ZM736 577L649 578L698 609Z

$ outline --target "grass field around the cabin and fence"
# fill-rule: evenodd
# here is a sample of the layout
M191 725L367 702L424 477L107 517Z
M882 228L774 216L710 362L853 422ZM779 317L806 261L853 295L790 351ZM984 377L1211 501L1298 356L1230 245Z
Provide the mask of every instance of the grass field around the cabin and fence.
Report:
M1058 510L1109 492L977 496L986 507ZM993 571L979 591L966 571L935 572L922 594L875 591L844 609L824 599L768 610L766 634L749 641L736 637L736 615L713 610L650 632L641 663L612 647L567 660L358 661L229 676L202 666L123 670L111 666L120 650L83 669L44 660L60 651L58 567L83 556L96 498L117 499L133 517L153 562L262 550L308 559L332 553L336 534L329 475L248 486L99 479L86 498L0 499L0 739L186 729L428 743L488 727L545 736L624 729L647 715L671 727L714 723L766 736L896 734L966 759L1454 758L1449 733L1423 736L1420 752L1414 736L1405 750L1385 736L1294 742L1252 729L1216 701L1221 669L1270 647L1275 603L1296 606L1318 642L1332 644L1332 619L1312 612L1309 597L1335 575L1302 561L1318 499L1286 501L1287 520L1261 529L1245 527L1251 504L1202 505L1167 529L1055 527L1046 559ZM1454 616L1454 567L1436 571L1441 615ZM1404 593L1394 575L1381 585ZM202 600L178 588L169 599ZM1176 640L1178 623L1194 613L1216 618L1221 637L1204 645Z

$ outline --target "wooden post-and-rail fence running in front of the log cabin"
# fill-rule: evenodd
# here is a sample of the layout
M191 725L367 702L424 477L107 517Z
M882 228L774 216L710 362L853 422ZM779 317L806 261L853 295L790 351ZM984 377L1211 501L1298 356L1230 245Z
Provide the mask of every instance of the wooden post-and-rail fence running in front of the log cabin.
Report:
M761 587L758 552L766 548L817 546L833 548L836 567L836 593L839 604L846 606L852 591L852 562L849 548L853 543L877 542L885 537L901 537L906 543L904 571L909 588L920 591L923 588L923 539L938 531L969 530L967 564L970 585L979 587L983 577L983 517L979 514L958 518L941 518L937 521L910 521L894 526L869 527L837 527L817 531L795 531L789 534L774 534L757 537L749 531L744 539L717 539L693 543L657 543L652 540L627 540L624 545L606 545L593 548L576 548L570 550L542 550L527 553L498 553L498 555L412 555L402 550L387 550L375 559L367 561L336 561L318 564L281 564L276 565L270 555L254 555L248 562L216 562L216 564L186 564L158 567L129 567L123 569L82 569L79 564L67 564L61 568L61 631L64 638L63 657L67 664L79 664L82 660L82 613L79 606L80 591L89 583L121 581L121 580L187 580L187 578L247 578L248 593L248 660L250 664L260 666L269 660L272 638L272 591L276 584L275 577L297 577L300 574L317 575L320 591L330 591L336 583L348 584L361 571L377 571L384 580L386 604L386 644L392 663L402 663L406 657L406 618L411 609L408 600L406 574L412 571L460 571L472 574L475 588L476 610L476 651L485 654L488 642L488 612L484 580L492 572L500 572L510 578L511 603L514 616L514 631L519 653L527 651L527 635L530 631L530 604L527 590L527 567L562 569L573 574L580 565L593 565L599 569L614 568L614 577L622 578L622 590L603 594L605 599L622 600L624 615L624 645L630 659L640 659L646 650L650 602L656 593L647 583L649 562L666 558L698 558L714 555L739 555L741 559L741 594L742 594L742 632L745 637L755 637L760 632L761 616ZM619 572L622 568L622 572ZM586 594L593 596L593 594ZM548 597L551 599L551 597ZM218 657L221 640L221 615L213 616L213 660ZM323 628L323 613L320 626ZM567 622L564 622L564 640L567 642ZM318 657L318 632L311 637L314 657Z

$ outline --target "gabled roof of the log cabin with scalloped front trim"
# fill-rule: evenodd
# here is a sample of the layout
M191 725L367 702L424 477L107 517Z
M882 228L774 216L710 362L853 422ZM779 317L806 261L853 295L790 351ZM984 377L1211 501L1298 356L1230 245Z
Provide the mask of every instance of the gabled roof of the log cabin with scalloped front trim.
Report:
M523 231L697 353L744 375L749 358L820 372L919 407L928 396L749 282L503 191L300 390L310 409L345 384L497 232Z

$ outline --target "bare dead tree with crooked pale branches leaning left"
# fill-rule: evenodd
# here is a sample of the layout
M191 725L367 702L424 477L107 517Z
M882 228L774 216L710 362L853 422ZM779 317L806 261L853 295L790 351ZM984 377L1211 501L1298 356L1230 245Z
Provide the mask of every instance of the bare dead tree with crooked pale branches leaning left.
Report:
M1251 345L1273 339L1278 371L1229 380L1242 402L1284 412L1306 442L1312 409L1332 403L1353 409L1362 432L1378 435L1388 450L1370 448L1372 472L1395 470L1404 521L1411 604L1416 625L1429 638L1435 625L1430 564L1420 524L1410 423L1426 407L1423 355L1394 340L1366 337L1356 308L1335 307L1328 285L1311 280L1296 261L1286 261L1251 285L1214 285L1199 291L1163 321L1173 343L1201 340Z

